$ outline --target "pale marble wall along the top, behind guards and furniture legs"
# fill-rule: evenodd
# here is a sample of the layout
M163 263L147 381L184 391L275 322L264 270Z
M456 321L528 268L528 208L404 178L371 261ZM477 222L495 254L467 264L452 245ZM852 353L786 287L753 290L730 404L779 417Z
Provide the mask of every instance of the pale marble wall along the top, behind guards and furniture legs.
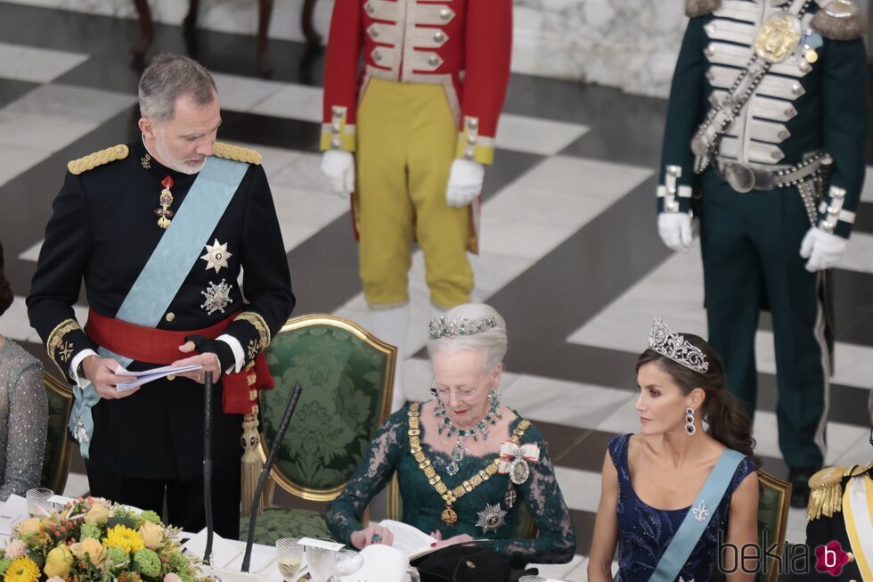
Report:
M5 0L135 18L130 0ZM488 0L472 0L486 2ZM684 0L513 0L512 70L666 96L687 19ZM861 0L866 9L869 0ZM301 40L303 0L274 0L270 36ZM151 0L155 20L177 24L183 0ZM319 0L315 29L327 36L333 0ZM201 0L205 29L254 34L257 0Z

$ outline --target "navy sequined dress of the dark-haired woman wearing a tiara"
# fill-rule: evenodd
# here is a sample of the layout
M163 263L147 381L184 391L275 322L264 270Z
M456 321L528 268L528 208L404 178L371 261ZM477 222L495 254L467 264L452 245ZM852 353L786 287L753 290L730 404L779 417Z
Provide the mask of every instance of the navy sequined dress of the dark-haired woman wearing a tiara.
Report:
M609 441L608 447L609 457L618 471L616 518L619 575L616 579L619 582L646 582L691 508L656 509L637 497L627 464L627 443L630 438L630 434L620 435ZM755 463L748 458L744 458L734 471L722 502L680 572L685 582L704 582L714 578L718 561L718 532L727 531L730 497L752 471L755 471Z

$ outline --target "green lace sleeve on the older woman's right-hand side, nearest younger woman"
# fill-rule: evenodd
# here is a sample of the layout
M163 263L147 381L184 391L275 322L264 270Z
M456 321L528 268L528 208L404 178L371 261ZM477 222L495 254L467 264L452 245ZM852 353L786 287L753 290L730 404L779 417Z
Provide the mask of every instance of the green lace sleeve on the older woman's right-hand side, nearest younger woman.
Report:
M530 477L519 486L534 514L537 537L499 539L492 542L494 551L512 562L564 563L573 559L576 537L570 512L555 480L555 468L546 449L543 435L533 426L527 429L523 442L535 442L540 447L540 460L530 463Z

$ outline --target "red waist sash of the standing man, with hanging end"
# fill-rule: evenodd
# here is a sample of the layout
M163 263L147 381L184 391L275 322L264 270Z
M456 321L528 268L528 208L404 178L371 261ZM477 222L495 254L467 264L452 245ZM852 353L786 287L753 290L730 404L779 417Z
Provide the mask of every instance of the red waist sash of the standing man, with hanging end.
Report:
M112 317L88 311L85 331L98 346L137 362L169 365L186 357L179 351L185 336L202 335L216 339L231 324L238 313L210 327L190 332L171 332L143 325L128 324ZM257 390L273 389L273 374L260 352L241 372L222 374L224 414L251 414L257 411Z

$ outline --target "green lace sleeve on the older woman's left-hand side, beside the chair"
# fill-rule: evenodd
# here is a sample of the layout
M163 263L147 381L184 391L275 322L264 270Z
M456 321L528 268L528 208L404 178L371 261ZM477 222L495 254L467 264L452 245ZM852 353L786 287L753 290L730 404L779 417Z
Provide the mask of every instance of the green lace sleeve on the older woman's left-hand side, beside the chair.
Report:
M396 471L400 460L403 435L406 430L406 408L388 417L388 421L373 437L370 450L337 499L328 505L328 528L333 537L350 545L349 537L363 529L361 516L375 496Z

